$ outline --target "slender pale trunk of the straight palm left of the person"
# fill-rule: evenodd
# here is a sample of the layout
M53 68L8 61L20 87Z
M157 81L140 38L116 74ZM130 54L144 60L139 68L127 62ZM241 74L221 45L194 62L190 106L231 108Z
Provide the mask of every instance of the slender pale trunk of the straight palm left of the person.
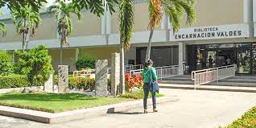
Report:
M125 83L125 51L123 43L120 43L120 93L126 93L126 83Z

